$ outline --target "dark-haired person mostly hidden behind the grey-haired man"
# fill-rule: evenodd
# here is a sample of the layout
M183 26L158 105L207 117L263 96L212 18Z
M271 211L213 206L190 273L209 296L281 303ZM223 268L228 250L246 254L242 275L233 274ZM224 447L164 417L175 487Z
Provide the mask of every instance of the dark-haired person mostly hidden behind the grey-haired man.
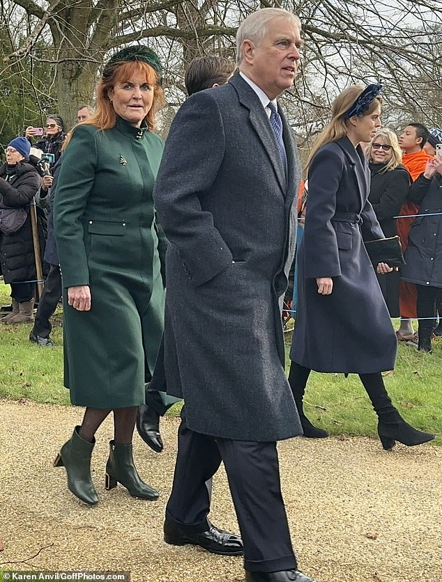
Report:
M225 56L197 56L185 70L184 83L188 95L224 85L234 74L235 68L235 63ZM162 356L158 361L161 359ZM158 365L152 382L146 383L146 404L139 407L137 414L138 434L155 453L161 453L163 447L160 416L164 416L179 400L166 393L164 370L160 370Z

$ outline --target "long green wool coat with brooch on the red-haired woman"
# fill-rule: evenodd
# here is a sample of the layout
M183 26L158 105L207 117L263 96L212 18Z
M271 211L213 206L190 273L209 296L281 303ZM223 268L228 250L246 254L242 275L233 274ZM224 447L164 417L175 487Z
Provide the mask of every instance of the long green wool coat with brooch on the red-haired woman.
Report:
M145 372L153 372L164 320L167 242L152 198L162 150L160 137L117 118L104 131L80 125L63 154L54 227L64 288L64 383L78 406L144 402ZM91 310L68 306L73 285L89 285Z

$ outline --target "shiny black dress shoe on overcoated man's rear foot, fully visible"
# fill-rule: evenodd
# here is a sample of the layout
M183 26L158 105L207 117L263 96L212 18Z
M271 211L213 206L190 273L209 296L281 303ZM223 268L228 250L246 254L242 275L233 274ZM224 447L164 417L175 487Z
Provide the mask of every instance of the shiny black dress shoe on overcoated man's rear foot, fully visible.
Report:
M170 521L165 521L165 542L172 546L185 546L192 544L221 556L242 556L243 540L239 535L223 531L210 524L209 529L203 533L189 533L185 528L180 528ZM302 581L301 581L302 582ZM307 579L305 579L307 582Z

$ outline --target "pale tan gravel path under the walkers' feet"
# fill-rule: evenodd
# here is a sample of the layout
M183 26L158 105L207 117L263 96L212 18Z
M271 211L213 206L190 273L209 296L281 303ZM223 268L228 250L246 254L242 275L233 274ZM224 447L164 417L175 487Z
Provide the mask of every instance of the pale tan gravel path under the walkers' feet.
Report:
M135 438L139 473L155 502L105 490L107 420L97 435L91 508L66 488L52 460L82 416L75 407L0 400L0 568L130 570L132 582L242 582L241 558L162 541L178 419L165 418L161 455ZM442 448L374 439L280 443L281 480L300 567L317 582L442 581ZM224 470L211 518L236 531ZM1 546L0 546L1 547ZM38 556L35 556L38 553ZM14 563L14 564L12 564Z

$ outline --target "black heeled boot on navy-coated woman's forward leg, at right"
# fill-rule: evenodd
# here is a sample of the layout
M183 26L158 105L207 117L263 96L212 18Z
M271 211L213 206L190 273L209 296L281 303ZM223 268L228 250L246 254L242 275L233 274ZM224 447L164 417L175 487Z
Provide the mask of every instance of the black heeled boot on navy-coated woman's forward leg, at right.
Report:
M393 448L395 441L406 446L414 446L434 439L434 434L416 430L405 422L390 400L381 372L360 374L359 377L379 418L378 434L385 450Z

